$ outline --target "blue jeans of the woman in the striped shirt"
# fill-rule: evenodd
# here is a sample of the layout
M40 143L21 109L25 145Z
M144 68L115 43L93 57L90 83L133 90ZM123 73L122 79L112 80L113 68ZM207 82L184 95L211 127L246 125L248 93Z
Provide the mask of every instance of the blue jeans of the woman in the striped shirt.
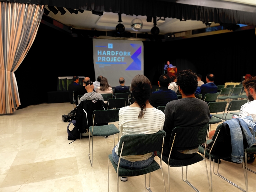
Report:
M112 157L114 159L114 162L118 165L119 155L116 154L115 148L116 147L114 147L112 150ZM121 158L119 166L127 169L141 169L150 165L153 161L154 161L154 154L152 155L152 157L149 157L148 159L143 161L131 162Z

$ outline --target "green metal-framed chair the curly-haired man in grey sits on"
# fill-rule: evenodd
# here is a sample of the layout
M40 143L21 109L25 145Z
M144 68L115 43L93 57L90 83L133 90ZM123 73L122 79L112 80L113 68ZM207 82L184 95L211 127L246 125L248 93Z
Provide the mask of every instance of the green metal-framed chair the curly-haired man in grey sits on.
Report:
M171 184L170 184L170 167L181 167L181 173L182 173L182 180L189 184L195 191L198 191L189 181L188 181L188 165L192 165L195 163L198 163L200 161L204 160L206 173L207 173L207 179L208 179L208 185L209 185L209 191L210 191L210 183L209 183L209 176L207 171L207 165L205 156L202 157L198 153L195 153L195 155L192 158L189 159L172 159L170 158L170 155L172 153L173 149L179 149L179 148L190 148L199 146L200 144L207 141L209 132L209 124L206 124L203 127L175 127L172 130L172 135L170 139L170 154L169 157L163 155L162 160L168 165L168 184L169 184L169 191L171 191ZM205 150L205 149L204 149ZM157 151L157 156L160 157L161 153ZM183 167L186 166L186 180L183 179ZM200 180L202 181L202 180Z

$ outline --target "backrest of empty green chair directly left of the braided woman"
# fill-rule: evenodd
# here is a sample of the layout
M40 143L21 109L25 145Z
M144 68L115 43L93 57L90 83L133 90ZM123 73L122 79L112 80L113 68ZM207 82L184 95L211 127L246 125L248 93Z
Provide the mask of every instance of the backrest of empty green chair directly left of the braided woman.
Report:
M119 113L120 109L108 109L108 110L95 110L92 113L92 122L94 118L94 123L104 124L110 122L119 121Z

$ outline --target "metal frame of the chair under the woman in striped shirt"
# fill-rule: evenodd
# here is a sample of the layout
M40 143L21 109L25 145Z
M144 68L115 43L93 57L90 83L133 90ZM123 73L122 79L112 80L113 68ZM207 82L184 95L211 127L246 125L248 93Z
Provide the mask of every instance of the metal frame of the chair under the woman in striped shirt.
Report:
M122 143L122 148L121 148L121 153L119 156L119 161L118 161L118 165L117 165L117 192L119 192L119 176L118 176L118 170L119 170L119 165L120 165L120 160L121 160L121 156L122 156L122 151L124 148L124 141ZM162 144L162 152L161 152L161 158L160 158L160 168L162 171L162 176L163 176L163 181L164 181L164 173L163 173L163 166L162 166L162 155L163 155L163 148L164 148L164 137L163 137L163 144ZM108 158L108 192L109 192L109 158ZM149 192L153 192L150 189L150 181L151 181L151 172L149 173L149 186L147 188L147 183L146 183L146 174L144 174L144 179L145 179L145 188L149 191ZM164 190L166 192L166 188L165 188L165 181L164 181ZM170 191L170 190L169 190Z

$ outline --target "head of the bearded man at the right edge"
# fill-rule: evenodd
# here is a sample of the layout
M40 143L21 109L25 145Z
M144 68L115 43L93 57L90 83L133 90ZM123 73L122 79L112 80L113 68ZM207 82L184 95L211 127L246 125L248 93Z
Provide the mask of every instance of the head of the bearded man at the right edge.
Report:
M242 83L249 101L254 101L256 99L256 76L251 76Z

